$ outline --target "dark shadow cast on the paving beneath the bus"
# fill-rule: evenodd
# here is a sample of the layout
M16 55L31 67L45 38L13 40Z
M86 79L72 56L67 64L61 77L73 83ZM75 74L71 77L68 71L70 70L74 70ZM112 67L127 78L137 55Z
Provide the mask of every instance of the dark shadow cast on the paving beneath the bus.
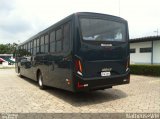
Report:
M28 79L26 77L23 77L22 79L38 87L37 82L33 80ZM62 90L62 89L47 87L45 91L77 107L109 102L109 101L125 98L128 96L122 90L118 90L114 88L106 89L106 90L91 91L91 92L73 93L73 92Z

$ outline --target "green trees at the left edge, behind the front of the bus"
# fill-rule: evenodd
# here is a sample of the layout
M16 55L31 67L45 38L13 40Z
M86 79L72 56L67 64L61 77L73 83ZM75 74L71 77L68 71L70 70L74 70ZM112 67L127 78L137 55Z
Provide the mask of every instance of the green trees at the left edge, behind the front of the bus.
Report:
M17 44L0 44L0 54L14 54Z

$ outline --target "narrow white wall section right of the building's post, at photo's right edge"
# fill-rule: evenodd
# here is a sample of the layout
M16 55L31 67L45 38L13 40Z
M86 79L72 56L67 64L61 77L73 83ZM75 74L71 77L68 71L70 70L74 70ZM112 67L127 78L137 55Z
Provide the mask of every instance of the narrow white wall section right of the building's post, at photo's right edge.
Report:
M160 40L153 42L153 63L160 64Z

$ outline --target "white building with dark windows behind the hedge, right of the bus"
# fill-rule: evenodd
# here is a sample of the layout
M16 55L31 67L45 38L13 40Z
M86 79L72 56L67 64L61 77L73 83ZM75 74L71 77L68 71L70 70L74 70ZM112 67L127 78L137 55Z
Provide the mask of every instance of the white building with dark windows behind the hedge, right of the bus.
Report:
M160 36L130 39L131 64L160 64Z

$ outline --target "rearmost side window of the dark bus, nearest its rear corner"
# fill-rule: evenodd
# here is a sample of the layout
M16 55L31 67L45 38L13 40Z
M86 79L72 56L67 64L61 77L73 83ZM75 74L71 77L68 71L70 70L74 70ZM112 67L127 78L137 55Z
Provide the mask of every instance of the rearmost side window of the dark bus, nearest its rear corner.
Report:
M64 25L63 51L66 52L70 48L70 22Z

